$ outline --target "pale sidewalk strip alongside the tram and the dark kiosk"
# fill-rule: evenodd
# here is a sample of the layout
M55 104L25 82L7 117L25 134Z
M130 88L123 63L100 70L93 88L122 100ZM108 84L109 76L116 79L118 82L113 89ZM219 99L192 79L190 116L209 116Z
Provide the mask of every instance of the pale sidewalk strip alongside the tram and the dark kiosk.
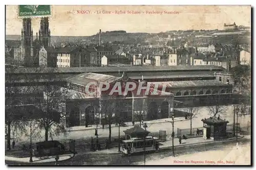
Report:
M238 139L243 138L242 135L238 136ZM202 144L202 143L218 143L218 142L223 142L223 141L228 141L228 140L236 140L236 137L233 138L228 138L225 140L213 140L213 139L204 139L203 137L194 137L194 138L188 138L186 140L182 140L182 143L179 143L178 138L174 138L174 147L182 147L182 146L189 146L189 145L196 145L196 144ZM168 140L165 142L159 142L161 145L159 145L160 150L165 149L165 148L170 148L173 146L173 141ZM95 152L92 152L95 153ZM106 153L106 154L118 154L118 147L110 148L108 150L101 150L101 151L96 151L96 153Z

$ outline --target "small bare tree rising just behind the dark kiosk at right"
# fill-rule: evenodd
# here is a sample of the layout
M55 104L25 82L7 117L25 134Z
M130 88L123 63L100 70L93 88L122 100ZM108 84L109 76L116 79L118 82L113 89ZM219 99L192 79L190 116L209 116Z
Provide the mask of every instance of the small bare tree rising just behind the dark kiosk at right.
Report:
M209 103L209 106L207 106L207 109L209 111L210 116L216 116L217 114L223 115L226 113L227 107L220 105L219 95L207 96L207 100Z

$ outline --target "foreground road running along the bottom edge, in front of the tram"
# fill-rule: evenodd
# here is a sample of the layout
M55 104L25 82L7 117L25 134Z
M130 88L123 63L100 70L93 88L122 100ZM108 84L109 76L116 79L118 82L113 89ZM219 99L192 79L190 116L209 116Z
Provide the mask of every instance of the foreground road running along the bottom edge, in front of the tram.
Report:
M250 136L245 136L239 140L240 148L246 148L244 153L248 154L250 152ZM186 155L186 154L196 154L200 152L219 152L219 156L222 156L223 159L225 156L228 156L227 153L222 153L220 151L232 150L236 147L236 141L225 141L221 143L205 143L203 145L190 145L187 147L181 147L175 149L176 158ZM222 155L221 155L222 154ZM226 154L226 155L225 155ZM231 154L232 155L232 154ZM146 162L152 163L152 161L158 161L163 158L172 156L172 151L170 149L162 150L157 153L146 154ZM206 158L205 158L206 159ZM231 160L230 158L226 158ZM143 164L144 156L132 155L132 156L123 156L122 154L108 154L102 152L89 152L89 153L78 153L75 157L59 162L60 165L132 165L132 164ZM6 161L6 164L17 164L15 162ZM54 163L44 163L40 165L54 165Z

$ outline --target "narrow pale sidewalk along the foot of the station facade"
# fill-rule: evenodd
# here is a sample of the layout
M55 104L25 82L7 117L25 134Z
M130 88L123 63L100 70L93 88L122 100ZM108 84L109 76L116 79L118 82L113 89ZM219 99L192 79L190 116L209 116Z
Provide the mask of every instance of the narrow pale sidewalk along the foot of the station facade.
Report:
M181 121L185 121L185 120L189 120L189 119L185 119L185 117L175 117L174 118L174 122L181 122ZM163 119L157 119L157 120L150 120L150 121L145 121L143 123L146 123L147 125L149 124L160 124L160 123L165 123L165 122L173 122L172 118L163 118ZM133 126L132 122L125 122L125 124L127 125L126 127L131 127ZM135 122L135 125L139 125L139 122ZM112 128L118 128L118 126L116 126L115 124L111 125ZM92 129L96 129L96 125L91 125L90 127L85 127L85 126L76 126L76 127L71 127L69 128L67 131L71 132L71 131L86 131L86 130L92 130ZM98 125L98 129L102 128L101 125ZM108 125L104 126L104 129L109 128Z

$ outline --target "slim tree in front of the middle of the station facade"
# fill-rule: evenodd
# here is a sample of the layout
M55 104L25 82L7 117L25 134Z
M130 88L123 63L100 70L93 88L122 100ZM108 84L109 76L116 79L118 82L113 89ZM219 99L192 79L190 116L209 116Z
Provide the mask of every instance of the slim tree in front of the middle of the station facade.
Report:
M118 110L116 105L116 98L110 96L109 99L104 98L100 100L100 114L102 117L102 122L109 125L109 143L111 143L111 125L114 124L116 120L116 111Z

